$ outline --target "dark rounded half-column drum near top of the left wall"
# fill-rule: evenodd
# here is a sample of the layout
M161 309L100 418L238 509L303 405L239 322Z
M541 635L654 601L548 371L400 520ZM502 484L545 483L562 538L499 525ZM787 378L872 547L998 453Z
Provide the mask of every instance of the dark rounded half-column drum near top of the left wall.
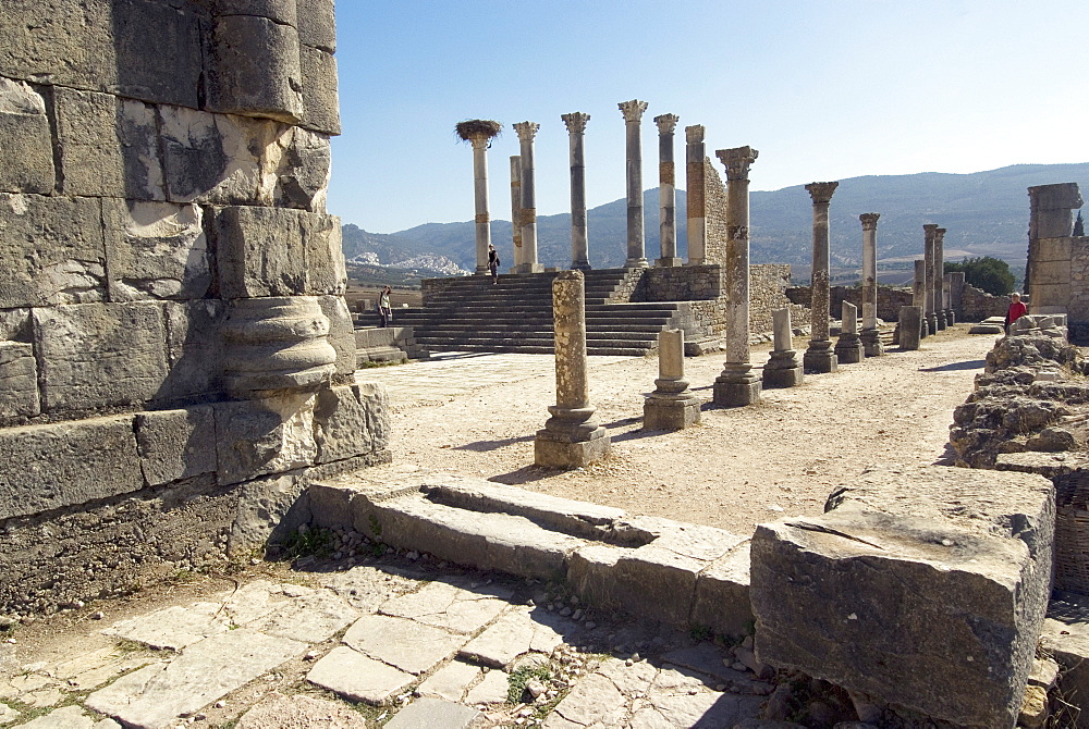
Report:
M303 118L297 89L305 83L294 27L255 15L216 20L208 110L294 124Z

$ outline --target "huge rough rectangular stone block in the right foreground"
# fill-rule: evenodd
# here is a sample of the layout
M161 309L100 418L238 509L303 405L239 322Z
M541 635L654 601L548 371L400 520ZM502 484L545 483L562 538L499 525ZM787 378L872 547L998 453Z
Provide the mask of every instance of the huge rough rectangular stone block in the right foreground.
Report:
M817 518L760 524L760 660L967 727L1013 727L1050 594L1037 475L873 470Z

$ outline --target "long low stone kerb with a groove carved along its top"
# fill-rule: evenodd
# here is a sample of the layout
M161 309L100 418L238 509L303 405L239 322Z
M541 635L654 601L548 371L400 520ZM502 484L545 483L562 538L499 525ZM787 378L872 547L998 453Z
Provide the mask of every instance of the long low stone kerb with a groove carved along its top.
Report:
M745 538L482 479L356 477L308 489L314 526L351 526L453 564L564 582L607 609L725 635L748 629Z

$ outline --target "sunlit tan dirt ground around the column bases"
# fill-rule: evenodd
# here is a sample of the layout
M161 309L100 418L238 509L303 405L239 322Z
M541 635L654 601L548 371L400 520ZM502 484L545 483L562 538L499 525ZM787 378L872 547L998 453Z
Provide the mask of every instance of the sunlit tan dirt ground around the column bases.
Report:
M387 381L393 403L393 462L368 469L367 478L457 472L750 533L763 521L820 514L828 494L867 467L945 458L953 409L971 392L995 339L967 329L927 337L918 351L893 347L833 374L806 375L800 387L766 391L756 406L705 404L701 423L678 432L641 430L657 358L591 357L591 401L612 454L567 472L533 466L534 433L555 401L550 357L523 364L521 376L466 371L456 395L428 384L435 368L450 369L450 362L359 372L360 379ZM805 346L804 338L795 341L799 354ZM756 364L768 349L754 348ZM486 371L488 358L476 359L477 371ZM701 399L711 399L722 362L721 355L686 359L686 376ZM485 381L494 379L501 381Z

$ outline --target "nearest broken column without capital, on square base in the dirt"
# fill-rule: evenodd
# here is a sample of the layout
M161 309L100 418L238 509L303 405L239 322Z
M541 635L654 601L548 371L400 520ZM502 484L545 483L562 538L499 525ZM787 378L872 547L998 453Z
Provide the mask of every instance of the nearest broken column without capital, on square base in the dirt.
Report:
M579 468L609 453L609 435L590 405L586 363L586 288L582 271L563 271L552 281L555 329L555 405L537 431L534 462Z

